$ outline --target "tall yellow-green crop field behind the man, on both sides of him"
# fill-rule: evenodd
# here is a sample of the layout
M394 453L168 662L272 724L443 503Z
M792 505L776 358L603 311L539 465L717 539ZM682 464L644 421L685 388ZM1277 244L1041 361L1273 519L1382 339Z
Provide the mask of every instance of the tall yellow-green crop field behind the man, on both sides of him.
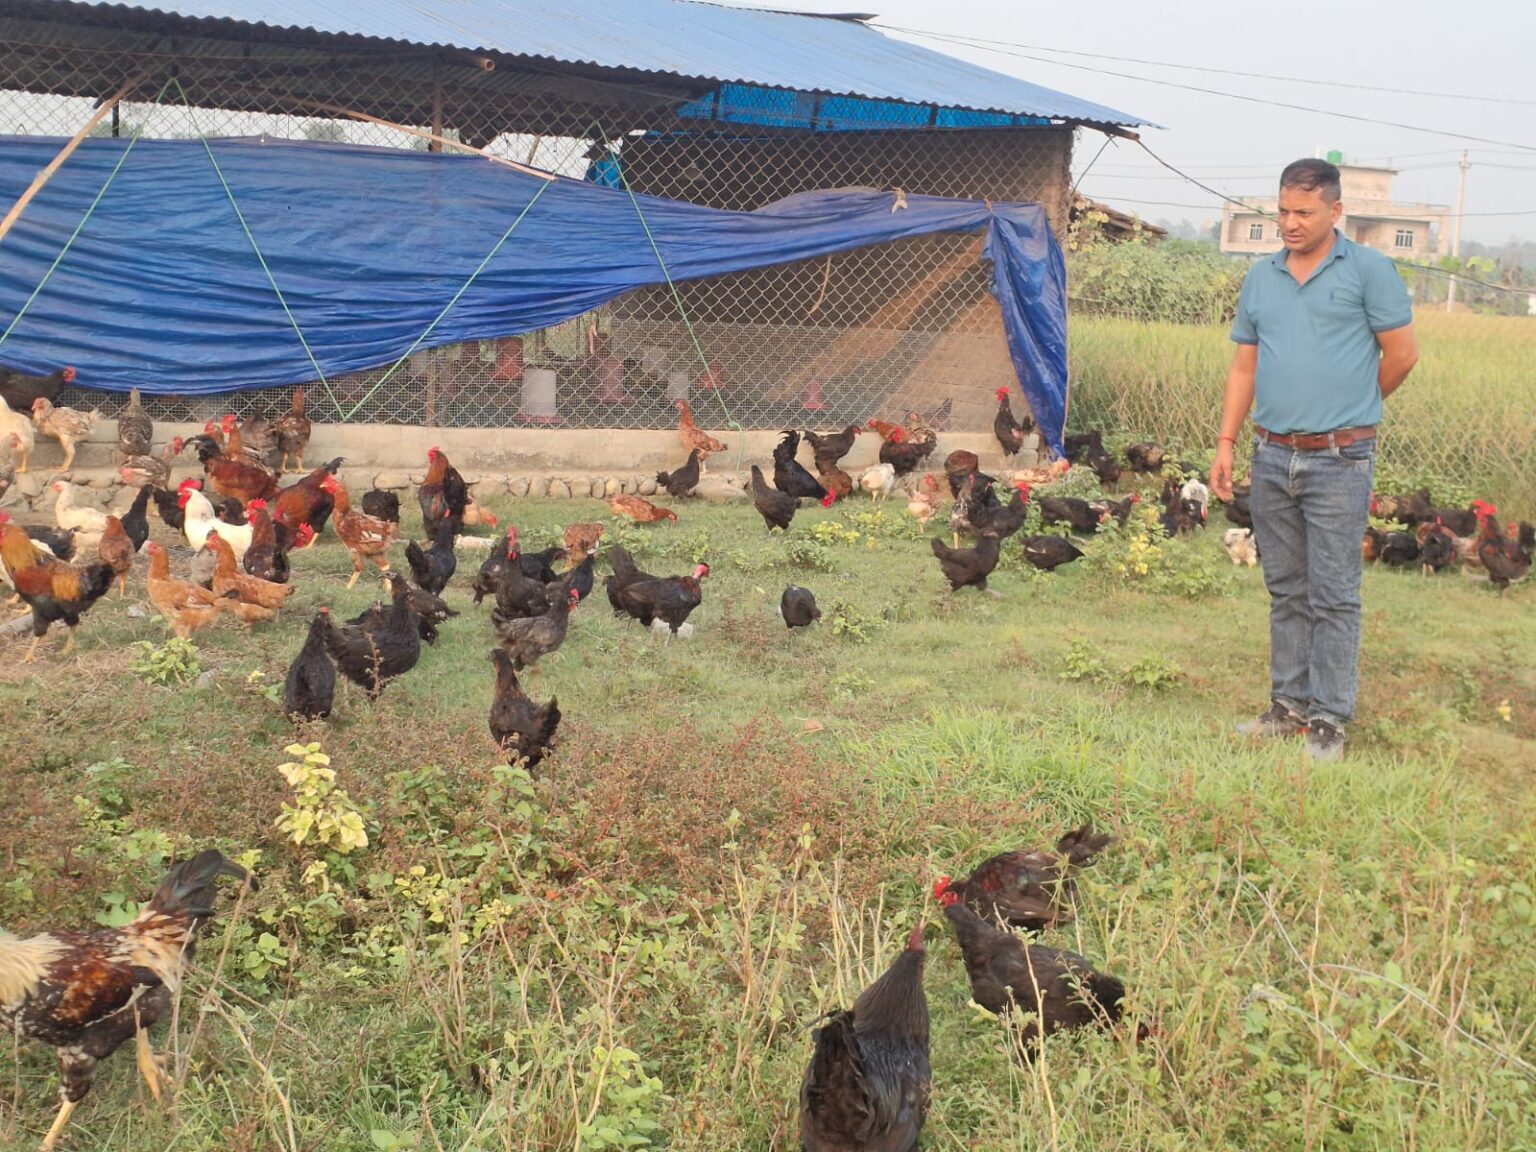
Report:
M1415 329L1421 359L1387 402L1378 479L1536 516L1536 319L1421 309ZM1069 353L1069 427L1103 427L1121 439L1158 429L1206 459L1232 359L1226 326L1074 316Z

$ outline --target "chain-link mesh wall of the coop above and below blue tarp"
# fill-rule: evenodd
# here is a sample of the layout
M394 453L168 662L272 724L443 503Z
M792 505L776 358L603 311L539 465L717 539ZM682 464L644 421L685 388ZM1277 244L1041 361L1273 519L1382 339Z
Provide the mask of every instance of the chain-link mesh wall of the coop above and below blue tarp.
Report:
M1072 131L1017 117L676 77L621 81L548 61L37 0L0 0L0 77L5 134L69 137L127 86L97 134L461 141L714 207L866 186L1038 201L1058 230L1066 223ZM945 127L986 121L995 124ZM909 126L891 126L900 123ZM356 422L444 427L670 427L674 401L688 396L710 425L842 425L912 409L980 432L994 389L1012 379L978 241L938 235L633 292L554 329L422 349L307 396L316 419L341 410ZM66 390L63 402L115 415L124 398ZM146 398L160 419L287 404L287 390Z

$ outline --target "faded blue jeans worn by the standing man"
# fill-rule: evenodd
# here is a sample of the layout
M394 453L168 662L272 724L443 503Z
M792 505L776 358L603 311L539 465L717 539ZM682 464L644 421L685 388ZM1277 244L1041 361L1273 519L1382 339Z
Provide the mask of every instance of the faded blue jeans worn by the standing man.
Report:
M1376 441L1293 452L1256 441L1249 507L1269 588L1270 696L1309 720L1355 716L1359 542Z

